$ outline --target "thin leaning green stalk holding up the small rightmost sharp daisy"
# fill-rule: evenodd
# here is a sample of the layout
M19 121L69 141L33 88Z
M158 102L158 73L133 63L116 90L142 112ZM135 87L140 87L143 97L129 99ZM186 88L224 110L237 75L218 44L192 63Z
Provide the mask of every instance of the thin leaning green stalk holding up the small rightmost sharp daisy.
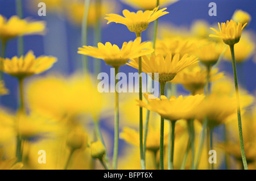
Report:
M240 110L240 99L239 99L239 90L238 90L238 81L237 81L237 68L236 68L236 60L234 57L234 45L229 45L230 52L232 56L232 65L234 72L234 85L236 88L236 97L237 97L237 119L238 119L238 129L239 129L239 138L240 138L240 149L242 155L243 167L245 170L248 170L247 161L245 157L245 148L243 146L243 133L242 133L242 121L241 121L241 110Z

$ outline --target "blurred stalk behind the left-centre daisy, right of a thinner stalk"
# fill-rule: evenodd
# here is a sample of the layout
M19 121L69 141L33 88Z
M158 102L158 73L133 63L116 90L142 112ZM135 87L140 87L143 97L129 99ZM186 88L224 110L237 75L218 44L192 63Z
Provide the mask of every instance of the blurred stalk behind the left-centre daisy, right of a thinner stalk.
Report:
M95 25L95 44L101 42L101 0L96 0L96 25ZM94 60L94 74L97 76L101 71L101 61Z

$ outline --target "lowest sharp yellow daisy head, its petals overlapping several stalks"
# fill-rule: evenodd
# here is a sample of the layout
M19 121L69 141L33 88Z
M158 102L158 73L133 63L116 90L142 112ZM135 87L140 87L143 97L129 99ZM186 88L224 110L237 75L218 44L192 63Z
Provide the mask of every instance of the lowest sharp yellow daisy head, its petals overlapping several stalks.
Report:
M190 95L183 98L180 95L178 98L171 96L168 100L166 96L161 95L161 99L149 99L147 93L144 94L148 101L144 103L142 100L138 100L140 107L145 107L147 110L159 113L164 119L176 121L180 119L192 119L195 115L195 108L202 102L204 95Z

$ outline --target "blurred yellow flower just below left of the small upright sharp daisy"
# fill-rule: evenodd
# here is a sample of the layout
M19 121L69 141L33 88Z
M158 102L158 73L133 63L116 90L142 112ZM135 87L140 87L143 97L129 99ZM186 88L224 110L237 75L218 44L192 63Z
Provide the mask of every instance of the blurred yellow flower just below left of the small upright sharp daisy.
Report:
M206 66L212 66L218 61L218 57L224 50L222 43L203 43L201 47L197 50L197 56L200 59L200 62Z

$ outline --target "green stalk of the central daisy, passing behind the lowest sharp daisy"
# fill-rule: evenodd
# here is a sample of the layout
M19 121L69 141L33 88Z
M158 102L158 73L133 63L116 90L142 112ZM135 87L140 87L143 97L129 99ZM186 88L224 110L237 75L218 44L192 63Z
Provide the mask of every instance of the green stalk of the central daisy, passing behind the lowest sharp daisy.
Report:
M164 95L166 90L166 82L159 82L160 84L160 94ZM164 161L163 161L163 150L164 150L164 118L161 116L160 119L160 169L164 170Z

